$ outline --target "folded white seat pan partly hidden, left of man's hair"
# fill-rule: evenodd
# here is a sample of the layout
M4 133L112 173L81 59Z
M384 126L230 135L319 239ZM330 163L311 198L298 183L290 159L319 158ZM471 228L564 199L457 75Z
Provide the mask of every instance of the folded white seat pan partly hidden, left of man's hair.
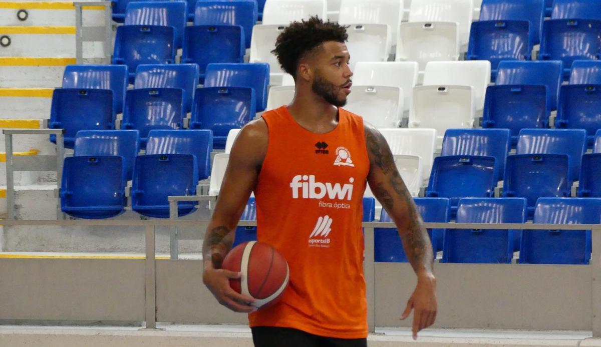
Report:
M275 49L275 40L284 31L285 25L255 25L252 29L251 52L248 62L266 62L270 73L282 73L278 58L271 52Z

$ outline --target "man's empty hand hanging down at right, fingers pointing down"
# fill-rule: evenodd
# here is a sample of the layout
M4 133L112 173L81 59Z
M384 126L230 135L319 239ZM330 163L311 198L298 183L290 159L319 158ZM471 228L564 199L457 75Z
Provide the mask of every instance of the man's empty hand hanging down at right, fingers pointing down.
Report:
M407 301L407 308L401 320L406 319L411 310L413 313L413 340L417 339L417 333L434 324L438 304L436 304L436 279L432 273L419 274L415 291Z

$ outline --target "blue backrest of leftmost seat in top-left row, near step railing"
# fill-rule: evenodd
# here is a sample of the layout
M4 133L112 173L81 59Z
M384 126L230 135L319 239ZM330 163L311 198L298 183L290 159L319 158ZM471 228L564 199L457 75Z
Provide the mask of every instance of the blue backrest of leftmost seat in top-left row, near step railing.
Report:
M175 49L182 48L184 27L188 21L185 1L130 2L125 10L125 25L172 26Z

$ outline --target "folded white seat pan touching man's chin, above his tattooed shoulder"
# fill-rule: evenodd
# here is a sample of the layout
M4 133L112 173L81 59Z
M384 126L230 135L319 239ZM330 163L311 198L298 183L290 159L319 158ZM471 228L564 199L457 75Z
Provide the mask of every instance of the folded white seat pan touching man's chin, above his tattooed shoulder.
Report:
M355 86L344 109L376 128L396 128L403 114L403 90L390 86Z

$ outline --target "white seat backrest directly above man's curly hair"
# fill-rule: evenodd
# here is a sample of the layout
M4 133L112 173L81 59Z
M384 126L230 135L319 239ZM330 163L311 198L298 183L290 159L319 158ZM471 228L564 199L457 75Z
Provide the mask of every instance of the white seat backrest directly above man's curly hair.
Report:
M312 16L328 17L326 0L267 0L263 8L263 24L288 25Z

